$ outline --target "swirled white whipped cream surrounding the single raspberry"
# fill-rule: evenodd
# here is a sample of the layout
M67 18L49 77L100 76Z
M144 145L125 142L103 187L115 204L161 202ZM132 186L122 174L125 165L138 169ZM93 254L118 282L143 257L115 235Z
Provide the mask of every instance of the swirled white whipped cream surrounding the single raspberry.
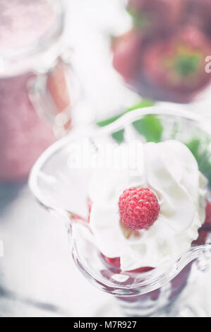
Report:
M205 221L207 179L191 151L179 141L133 145L133 167L97 170L89 187L95 244L105 256L120 257L123 271L176 259ZM119 196L131 186L148 187L158 198L159 216L149 230L128 230L119 220Z

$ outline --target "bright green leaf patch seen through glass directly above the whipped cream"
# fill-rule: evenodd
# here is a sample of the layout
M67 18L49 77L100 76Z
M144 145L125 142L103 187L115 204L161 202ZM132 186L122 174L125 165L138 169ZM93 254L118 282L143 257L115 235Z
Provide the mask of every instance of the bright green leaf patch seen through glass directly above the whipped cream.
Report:
M143 119L133 122L133 126L140 135L145 136L147 142L161 141L163 127L156 115L145 115Z

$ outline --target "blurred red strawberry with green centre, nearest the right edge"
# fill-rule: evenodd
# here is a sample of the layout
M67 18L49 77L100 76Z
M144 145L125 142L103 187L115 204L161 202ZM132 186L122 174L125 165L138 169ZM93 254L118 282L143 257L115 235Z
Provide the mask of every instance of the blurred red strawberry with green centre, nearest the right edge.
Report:
M205 57L210 43L193 26L174 37L145 48L143 72L136 77L136 88L145 97L172 102L189 102L205 88L211 76L205 73Z

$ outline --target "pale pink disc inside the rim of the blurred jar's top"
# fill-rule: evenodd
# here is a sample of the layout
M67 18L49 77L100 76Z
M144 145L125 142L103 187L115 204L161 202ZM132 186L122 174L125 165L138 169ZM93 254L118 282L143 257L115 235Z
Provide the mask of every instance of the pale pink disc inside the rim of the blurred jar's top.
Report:
M0 49L33 45L55 22L47 0L0 0Z

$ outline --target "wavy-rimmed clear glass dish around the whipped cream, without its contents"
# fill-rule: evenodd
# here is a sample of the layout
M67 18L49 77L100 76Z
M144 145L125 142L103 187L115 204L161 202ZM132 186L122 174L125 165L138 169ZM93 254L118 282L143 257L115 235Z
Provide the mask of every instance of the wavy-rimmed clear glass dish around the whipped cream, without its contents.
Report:
M152 121L146 122L147 119ZM153 124L152 127L150 124ZM155 127L159 128L157 136ZM96 152L97 144L110 142L119 134L122 141L127 142L132 141L134 136L141 141L177 139L191 148L195 158L198 159L200 171L210 180L207 188L207 199L209 199L211 185L210 169L207 167L211 162L209 133L210 124L189 112L160 107L137 109L102 129L87 129L80 135L77 132L69 134L54 143L37 160L32 169L30 189L44 208L56 213L64 221L76 266L93 285L116 297L124 316L181 315L176 312L178 308L176 303L187 289L190 275L193 277L191 271L197 270L196 265L205 271L209 265L211 227L208 225L203 230L206 232L204 241L198 240L191 249L174 261L169 261L152 271L141 273L121 271L115 264L108 263L95 247L88 224L87 203L88 183L95 168L77 166L74 149L76 146L84 147L89 142ZM88 150L87 152L90 153ZM74 162L75 167L73 167ZM185 307L187 302L188 295L183 298L182 306ZM194 305L194 310L191 309L191 312L197 316L201 310L200 304L195 302Z

